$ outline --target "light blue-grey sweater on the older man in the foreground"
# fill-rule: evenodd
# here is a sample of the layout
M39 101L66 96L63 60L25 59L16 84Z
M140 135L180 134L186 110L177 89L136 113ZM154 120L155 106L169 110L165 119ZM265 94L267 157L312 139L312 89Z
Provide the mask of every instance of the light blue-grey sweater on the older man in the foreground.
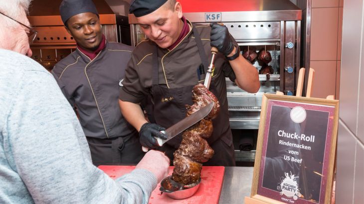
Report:
M53 76L0 49L0 203L148 203L157 179L116 181L92 165L85 135Z

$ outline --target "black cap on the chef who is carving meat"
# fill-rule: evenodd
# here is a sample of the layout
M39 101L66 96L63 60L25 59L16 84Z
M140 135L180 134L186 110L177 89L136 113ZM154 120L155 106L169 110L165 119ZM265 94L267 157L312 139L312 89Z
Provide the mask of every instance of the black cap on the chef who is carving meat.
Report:
M133 0L129 13L133 13L136 17L152 13L161 7L167 0Z

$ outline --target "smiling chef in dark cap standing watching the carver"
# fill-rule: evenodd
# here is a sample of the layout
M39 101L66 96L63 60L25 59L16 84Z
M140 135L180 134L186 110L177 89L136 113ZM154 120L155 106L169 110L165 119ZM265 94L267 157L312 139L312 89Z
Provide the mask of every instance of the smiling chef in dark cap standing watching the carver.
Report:
M118 104L132 47L107 42L92 0L63 0L59 10L77 45L52 74L79 115L94 165L138 163L144 155L138 132Z

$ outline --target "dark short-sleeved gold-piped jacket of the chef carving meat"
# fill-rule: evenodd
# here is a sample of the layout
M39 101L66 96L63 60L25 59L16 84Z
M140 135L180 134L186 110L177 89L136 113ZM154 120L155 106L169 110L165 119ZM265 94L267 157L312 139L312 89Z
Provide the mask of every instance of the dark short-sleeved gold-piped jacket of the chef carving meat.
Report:
M189 24L190 22L187 21ZM209 25L195 24L200 34L202 44L208 62L211 61L210 31ZM120 88L119 99L126 102L139 103L149 94L152 87L153 72L153 53L156 50L156 44L150 40L139 43L132 53L132 58L128 63L125 71L125 78ZM159 65L159 84L167 88L180 88L193 86L197 83L203 83L205 74L198 75L197 69L201 65L201 58L194 39L193 32L189 33L182 41L171 51L158 47L158 65ZM221 107L219 114L228 114L226 98L225 77L235 81L235 74L228 60L218 53L215 58L215 69L211 79L214 84ZM173 115L171 115L173 118ZM226 121L226 127L229 121ZM223 139L223 138L222 138ZM224 139L223 139L224 140ZM226 141L231 145L231 138Z

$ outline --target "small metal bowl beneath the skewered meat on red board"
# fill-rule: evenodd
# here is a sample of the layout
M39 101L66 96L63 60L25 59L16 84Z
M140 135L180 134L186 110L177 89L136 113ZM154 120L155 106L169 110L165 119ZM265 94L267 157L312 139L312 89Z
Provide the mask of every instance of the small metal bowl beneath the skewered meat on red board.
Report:
M193 196L201 182L201 179L199 179L195 184L183 185L173 181L171 177L172 175L162 180L159 190L172 199L186 199Z

